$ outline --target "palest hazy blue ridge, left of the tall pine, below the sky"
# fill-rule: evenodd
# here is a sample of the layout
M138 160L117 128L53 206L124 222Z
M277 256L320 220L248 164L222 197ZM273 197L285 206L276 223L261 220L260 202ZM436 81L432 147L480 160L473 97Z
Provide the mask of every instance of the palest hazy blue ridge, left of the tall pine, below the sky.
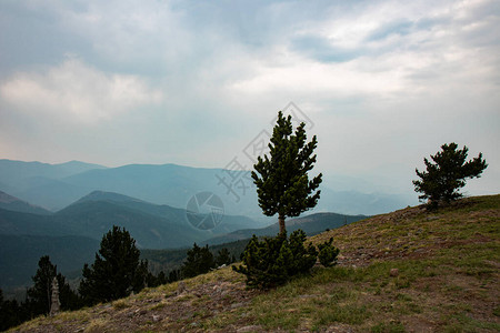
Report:
M199 192L212 192L224 204L228 214L261 216L257 205L256 188L249 172L244 172L244 193L234 185L234 193L220 183L218 176L227 175L222 169L190 168L177 164L129 164L106 170L90 170L63 179L76 186L117 192L154 204L186 208L189 200ZM228 181L228 180L227 180ZM238 185L238 186L239 186Z

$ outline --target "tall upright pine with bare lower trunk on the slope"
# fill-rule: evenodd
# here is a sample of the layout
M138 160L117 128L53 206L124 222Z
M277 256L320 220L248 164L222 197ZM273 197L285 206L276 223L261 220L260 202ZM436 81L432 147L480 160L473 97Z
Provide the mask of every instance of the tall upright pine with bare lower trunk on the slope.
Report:
M252 179L257 185L259 206L268 216L278 214L280 233L286 232L287 216L300 215L313 208L320 198L321 191L312 192L320 185L322 174L312 180L308 176L316 162L312 152L318 141L314 135L306 143L304 127L302 122L293 134L291 115L284 118L280 111L268 145L270 157L259 157L253 165Z

